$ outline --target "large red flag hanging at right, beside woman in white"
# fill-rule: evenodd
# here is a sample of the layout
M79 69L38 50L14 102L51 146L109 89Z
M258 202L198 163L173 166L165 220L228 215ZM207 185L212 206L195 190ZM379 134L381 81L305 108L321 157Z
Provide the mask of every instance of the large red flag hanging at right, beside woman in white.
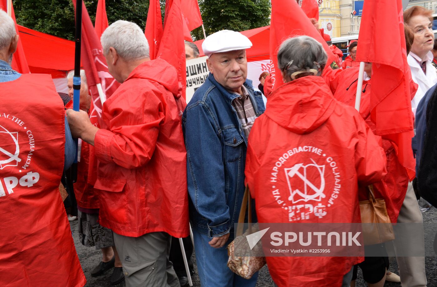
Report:
M357 61L371 62L371 119L376 134L392 142L410 179L415 174L411 150L411 72L407 63L402 0L365 1ZM381 29L384 27L384 29ZM392 49L381 49L390 43Z

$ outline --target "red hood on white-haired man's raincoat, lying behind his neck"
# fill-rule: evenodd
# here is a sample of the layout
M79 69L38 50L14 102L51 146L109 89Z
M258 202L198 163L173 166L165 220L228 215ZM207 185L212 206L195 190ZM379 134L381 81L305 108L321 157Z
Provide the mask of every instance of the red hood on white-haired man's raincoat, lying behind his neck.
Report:
M155 81L163 85L163 87L170 91L175 98L180 98L182 95L182 87L177 81L176 69L161 58L140 64L131 74L129 74L126 81L131 78Z

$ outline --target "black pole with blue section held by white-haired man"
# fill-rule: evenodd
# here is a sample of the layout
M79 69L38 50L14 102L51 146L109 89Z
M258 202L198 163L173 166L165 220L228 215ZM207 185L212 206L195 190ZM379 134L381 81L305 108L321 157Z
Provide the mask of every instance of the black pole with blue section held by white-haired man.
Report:
M80 99L80 45L82 40L82 0L76 0L76 36L75 36L75 50L74 50L74 76L73 76L73 110L79 111ZM72 181L77 180L77 152L78 140L74 139L76 143L76 156L74 163L71 166Z

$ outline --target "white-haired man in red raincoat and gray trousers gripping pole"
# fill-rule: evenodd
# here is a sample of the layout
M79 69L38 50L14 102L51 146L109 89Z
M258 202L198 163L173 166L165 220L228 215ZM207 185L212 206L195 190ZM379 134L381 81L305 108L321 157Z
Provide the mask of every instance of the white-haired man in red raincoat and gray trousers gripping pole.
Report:
M114 232L126 286L179 287L168 260L170 235L189 234L186 151L177 72L149 59L138 25L116 21L101 37L111 75L122 84L104 103L101 128L67 112L72 134L94 145L99 223Z

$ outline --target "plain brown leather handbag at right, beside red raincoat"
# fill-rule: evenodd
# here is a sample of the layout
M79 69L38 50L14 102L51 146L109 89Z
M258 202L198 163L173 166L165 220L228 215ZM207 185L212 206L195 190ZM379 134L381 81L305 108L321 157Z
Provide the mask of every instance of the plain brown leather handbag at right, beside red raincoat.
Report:
M364 245L395 240L392 222L387 213L384 199L375 199L373 185L368 186L369 200L360 201L361 223ZM373 223L373 224L371 224Z

